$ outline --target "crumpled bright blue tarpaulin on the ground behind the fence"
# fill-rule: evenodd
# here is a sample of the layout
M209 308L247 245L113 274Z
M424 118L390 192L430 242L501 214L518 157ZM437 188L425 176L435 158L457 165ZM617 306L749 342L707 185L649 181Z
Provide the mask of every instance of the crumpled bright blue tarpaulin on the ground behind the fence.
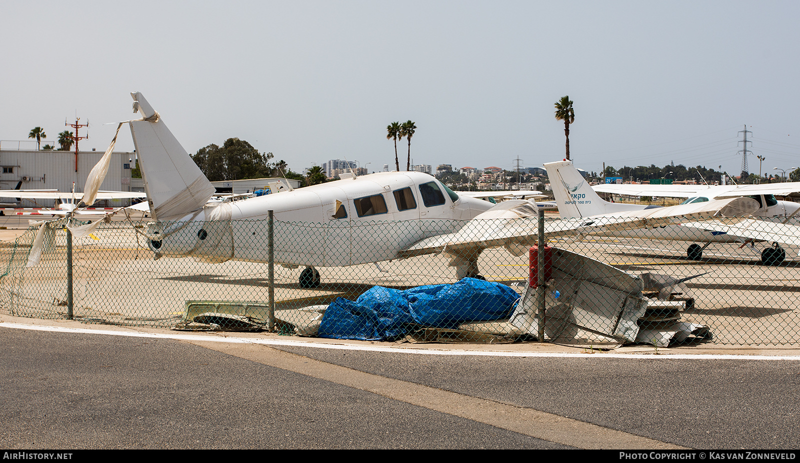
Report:
M356 301L337 297L328 305L318 336L386 341L404 336L410 324L455 328L466 321L499 320L510 317L518 298L506 285L475 278L403 291L374 286Z

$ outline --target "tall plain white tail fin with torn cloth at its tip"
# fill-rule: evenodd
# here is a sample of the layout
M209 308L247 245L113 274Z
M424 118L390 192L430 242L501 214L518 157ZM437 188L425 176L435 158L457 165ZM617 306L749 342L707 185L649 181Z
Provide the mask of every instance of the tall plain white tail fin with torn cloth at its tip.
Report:
M134 112L142 115L128 123L150 214L157 221L170 221L202 209L216 189L142 94L130 96Z

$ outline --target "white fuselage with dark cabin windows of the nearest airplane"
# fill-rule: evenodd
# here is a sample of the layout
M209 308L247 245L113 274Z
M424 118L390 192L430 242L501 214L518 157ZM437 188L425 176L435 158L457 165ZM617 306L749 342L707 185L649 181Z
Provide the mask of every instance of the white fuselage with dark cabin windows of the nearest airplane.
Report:
M265 219L272 210L275 262L355 265L394 259L492 206L460 197L428 174L386 172L206 206L178 222L154 224L150 233L166 236L150 241L150 248L162 255L268 261Z

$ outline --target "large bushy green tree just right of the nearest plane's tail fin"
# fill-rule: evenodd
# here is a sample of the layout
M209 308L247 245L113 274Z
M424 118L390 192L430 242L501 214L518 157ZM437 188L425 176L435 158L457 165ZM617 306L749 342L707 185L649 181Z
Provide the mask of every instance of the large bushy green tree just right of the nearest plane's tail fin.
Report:
M192 156L211 182L271 177L274 174L271 158L272 153L258 153L250 143L238 138L228 138L222 146L212 143Z

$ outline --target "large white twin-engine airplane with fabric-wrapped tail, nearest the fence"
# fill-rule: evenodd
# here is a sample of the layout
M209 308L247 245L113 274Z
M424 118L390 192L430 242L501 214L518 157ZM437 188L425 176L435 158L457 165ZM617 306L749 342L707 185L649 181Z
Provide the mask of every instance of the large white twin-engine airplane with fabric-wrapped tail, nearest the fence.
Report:
M493 205L462 197L434 177L418 172L349 174L342 180L280 194L209 202L214 186L142 94L131 96L134 112L142 116L128 124L153 218L147 238L156 258L193 256L206 261L267 262L264 219L270 210L278 224L297 223L296 229L274 233L274 262L294 268L306 266L300 275L304 287L319 285L314 267L428 253L448 255L459 278L479 276L482 249L505 247L522 255L537 241L534 202L512 200ZM721 215L738 217L755 209L754 200L733 198L614 214L614 218L548 221L545 233L558 236L586 227L617 230ZM233 226L232 221L242 222Z

